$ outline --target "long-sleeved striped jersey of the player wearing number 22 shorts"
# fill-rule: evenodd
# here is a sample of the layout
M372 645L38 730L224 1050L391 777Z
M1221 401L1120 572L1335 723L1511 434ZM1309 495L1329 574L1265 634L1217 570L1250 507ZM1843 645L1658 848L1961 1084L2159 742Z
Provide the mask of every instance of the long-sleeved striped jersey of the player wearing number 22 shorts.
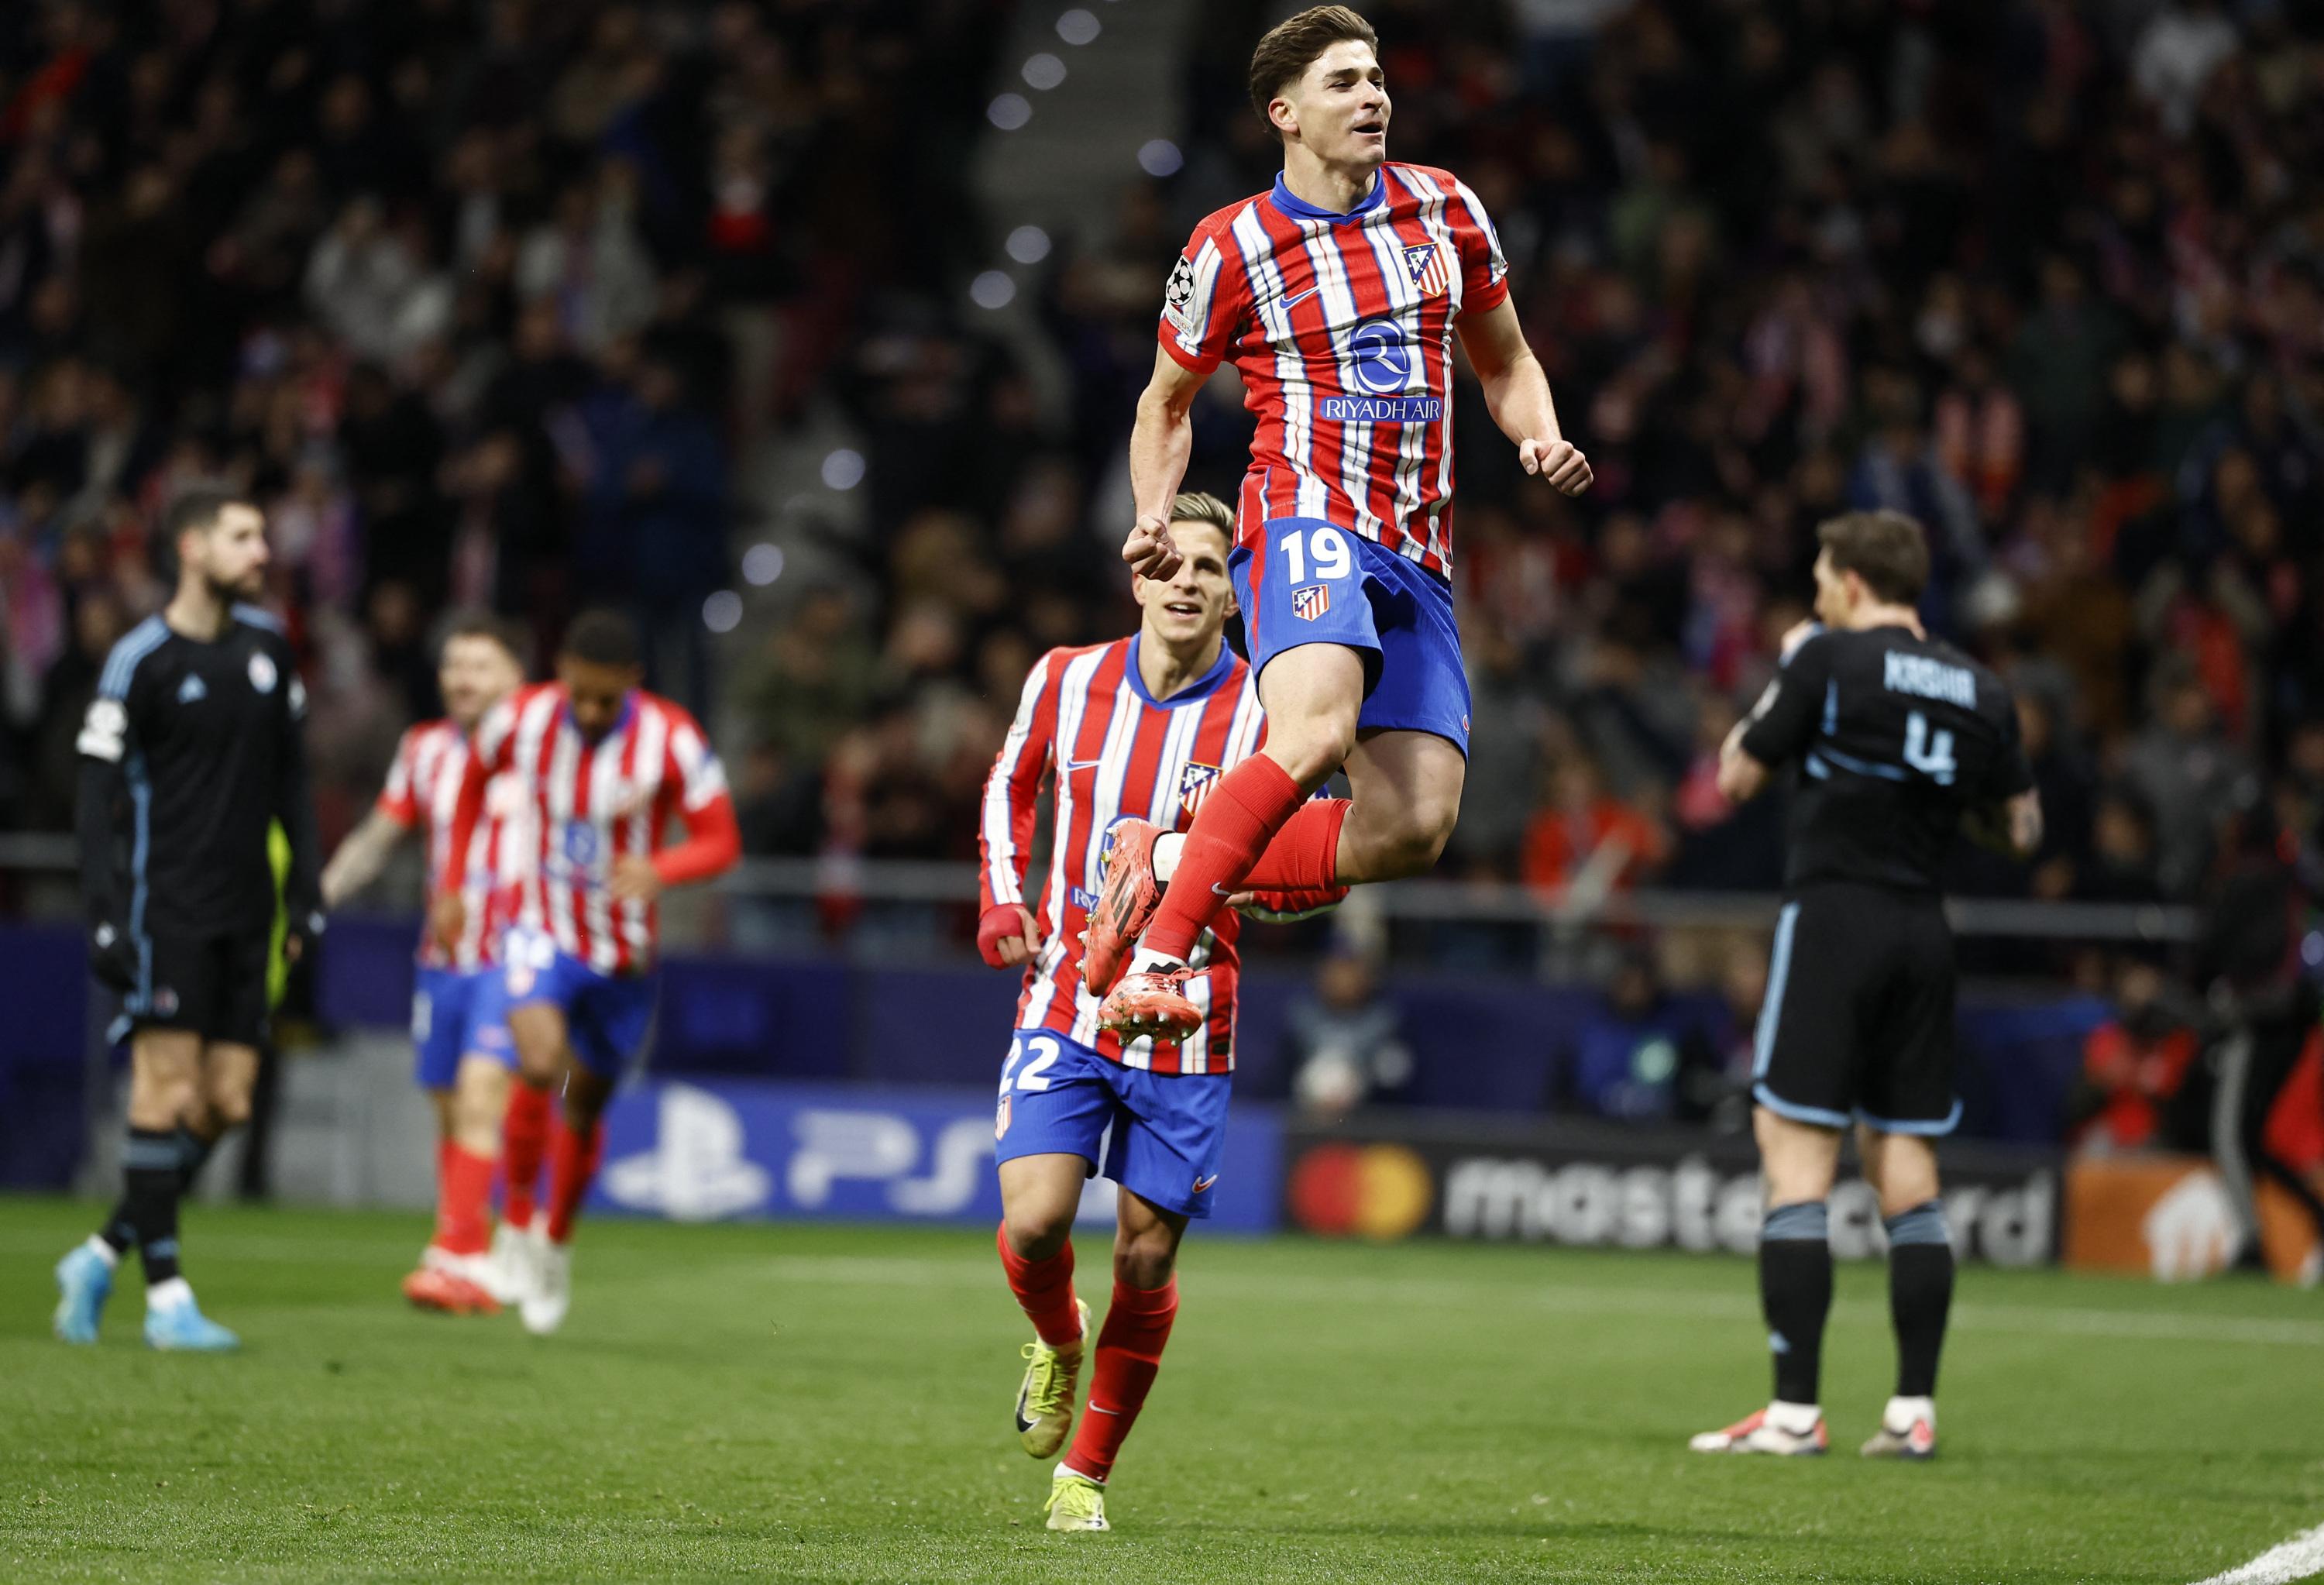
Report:
M1155 700L1139 679L1139 641L1053 648L1025 679L1016 720L985 779L978 830L983 906L1025 902L1034 804L1041 776L1055 774L1055 827L1048 876L1034 904L1041 951L1025 967L1020 1030L1057 1030L1102 1057L1155 1074L1234 1071L1234 937L1241 916L1220 913L1195 944L1188 983L1206 1023L1188 1041L1136 1039L1122 1046L1097 1027L1097 1002L1081 985L1081 932L1104 883L1106 830L1136 816L1185 830L1218 779L1260 746L1260 693L1234 651L1192 688Z

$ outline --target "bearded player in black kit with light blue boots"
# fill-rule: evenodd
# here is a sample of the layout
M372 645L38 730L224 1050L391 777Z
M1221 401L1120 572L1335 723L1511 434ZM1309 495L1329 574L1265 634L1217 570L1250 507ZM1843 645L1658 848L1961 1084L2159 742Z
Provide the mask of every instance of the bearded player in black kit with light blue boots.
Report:
M218 1136L251 1113L267 1030L274 869L295 960L321 932L307 693L265 588L265 516L225 490L170 507L177 595L123 637L81 725L81 897L88 962L121 995L130 1039L125 1192L56 1267L56 1334L98 1341L114 1267L137 1246L146 1343L232 1348L179 1276L177 1202Z

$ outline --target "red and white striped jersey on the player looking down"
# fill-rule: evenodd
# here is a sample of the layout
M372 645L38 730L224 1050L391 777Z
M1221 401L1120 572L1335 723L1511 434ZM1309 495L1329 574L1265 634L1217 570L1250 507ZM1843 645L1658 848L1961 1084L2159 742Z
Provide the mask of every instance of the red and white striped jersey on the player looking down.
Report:
M614 862L665 846L732 804L725 769L679 704L637 690L595 744L581 737L562 683L518 688L476 727L486 774L514 772L530 834L511 923L548 934L597 974L653 967L658 909L614 902Z

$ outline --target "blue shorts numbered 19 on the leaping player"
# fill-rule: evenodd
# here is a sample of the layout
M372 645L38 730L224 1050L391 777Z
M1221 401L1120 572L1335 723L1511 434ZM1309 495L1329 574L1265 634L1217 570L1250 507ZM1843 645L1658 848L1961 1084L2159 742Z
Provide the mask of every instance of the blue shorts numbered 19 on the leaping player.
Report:
M1434 732L1469 753L1452 586L1322 518L1271 518L1227 555L1253 672L1301 644L1364 655L1360 732Z

